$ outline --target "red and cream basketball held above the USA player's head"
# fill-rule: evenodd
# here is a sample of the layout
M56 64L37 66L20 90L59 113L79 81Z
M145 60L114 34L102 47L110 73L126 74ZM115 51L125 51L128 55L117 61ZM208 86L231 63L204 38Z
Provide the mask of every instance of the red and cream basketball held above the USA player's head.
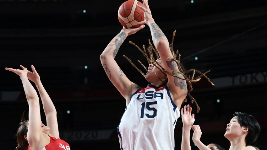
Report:
M128 0L124 2L118 10L118 19L127 29L138 28L145 23L144 12L138 8L135 3L144 7L144 4L137 0Z

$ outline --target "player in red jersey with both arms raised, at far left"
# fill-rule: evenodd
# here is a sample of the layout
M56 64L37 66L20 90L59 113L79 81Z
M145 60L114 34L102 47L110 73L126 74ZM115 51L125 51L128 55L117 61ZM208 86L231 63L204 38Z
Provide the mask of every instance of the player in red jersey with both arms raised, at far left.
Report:
M29 104L29 120L20 123L16 134L18 142L16 150L70 150L68 143L59 139L56 108L34 66L31 66L33 72L23 66L20 67L23 70L5 68L19 75ZM39 98L29 80L35 83L41 96L47 126L41 121Z

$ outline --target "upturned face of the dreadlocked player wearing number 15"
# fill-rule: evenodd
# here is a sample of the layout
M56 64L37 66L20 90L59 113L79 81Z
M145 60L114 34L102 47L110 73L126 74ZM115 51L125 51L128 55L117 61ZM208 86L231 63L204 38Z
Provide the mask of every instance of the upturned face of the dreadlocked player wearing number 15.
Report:
M159 58L159 59L157 59L156 60L156 62L158 62L160 65L161 65L161 67L163 67L163 65L162 65L162 61L161 61L161 59ZM159 67L156 63L154 63L157 67ZM155 67L155 65L154 65L153 63L151 63L151 64L149 64L149 67L148 67L148 71L146 72L146 80L148 81L148 82L150 82L150 83L153 83L153 82L155 82L155 81L158 81L159 80L159 78L161 79L161 80L164 80L164 79L166 79L167 78L167 76L165 75L165 74L163 74L161 71L160 71L160 69L158 69L157 67ZM159 68L161 68L161 67L159 67ZM159 78L158 78L158 77Z

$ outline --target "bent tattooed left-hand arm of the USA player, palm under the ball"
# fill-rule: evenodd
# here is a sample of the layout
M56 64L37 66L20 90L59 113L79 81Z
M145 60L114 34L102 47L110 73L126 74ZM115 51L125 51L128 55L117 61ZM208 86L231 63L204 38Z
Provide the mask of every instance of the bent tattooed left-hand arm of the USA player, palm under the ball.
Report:
M106 49L102 52L100 56L101 64L106 72L106 75L117 88L117 90L126 99L126 104L129 103L130 96L140 88L138 85L131 82L126 75L123 73L122 69L118 66L115 61L115 56L117 52L126 39L128 35L134 34L140 29L143 29L144 25L135 29L125 29L123 28L121 32L116 35L108 44Z

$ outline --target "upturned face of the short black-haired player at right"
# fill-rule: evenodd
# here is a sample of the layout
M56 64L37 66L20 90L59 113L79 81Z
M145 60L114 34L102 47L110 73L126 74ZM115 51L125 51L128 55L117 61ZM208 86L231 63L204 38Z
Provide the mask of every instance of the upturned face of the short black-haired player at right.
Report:
M242 136L242 131L244 129L245 129L245 127L240 126L240 124L237 120L237 116L235 116L231 119L230 123L227 124L224 137L226 137L228 140L230 140L234 137L240 137L240 136Z

